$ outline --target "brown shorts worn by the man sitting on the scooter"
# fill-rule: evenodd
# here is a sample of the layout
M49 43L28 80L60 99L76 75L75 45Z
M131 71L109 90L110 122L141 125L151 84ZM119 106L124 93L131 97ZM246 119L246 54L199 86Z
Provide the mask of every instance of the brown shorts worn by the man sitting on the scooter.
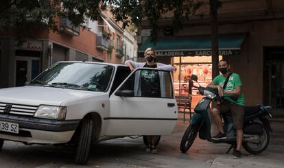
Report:
M239 104L230 104L229 101L224 101L222 104L215 106L220 110L220 114L229 113L233 118L233 127L236 130L241 130L244 125L244 106Z

